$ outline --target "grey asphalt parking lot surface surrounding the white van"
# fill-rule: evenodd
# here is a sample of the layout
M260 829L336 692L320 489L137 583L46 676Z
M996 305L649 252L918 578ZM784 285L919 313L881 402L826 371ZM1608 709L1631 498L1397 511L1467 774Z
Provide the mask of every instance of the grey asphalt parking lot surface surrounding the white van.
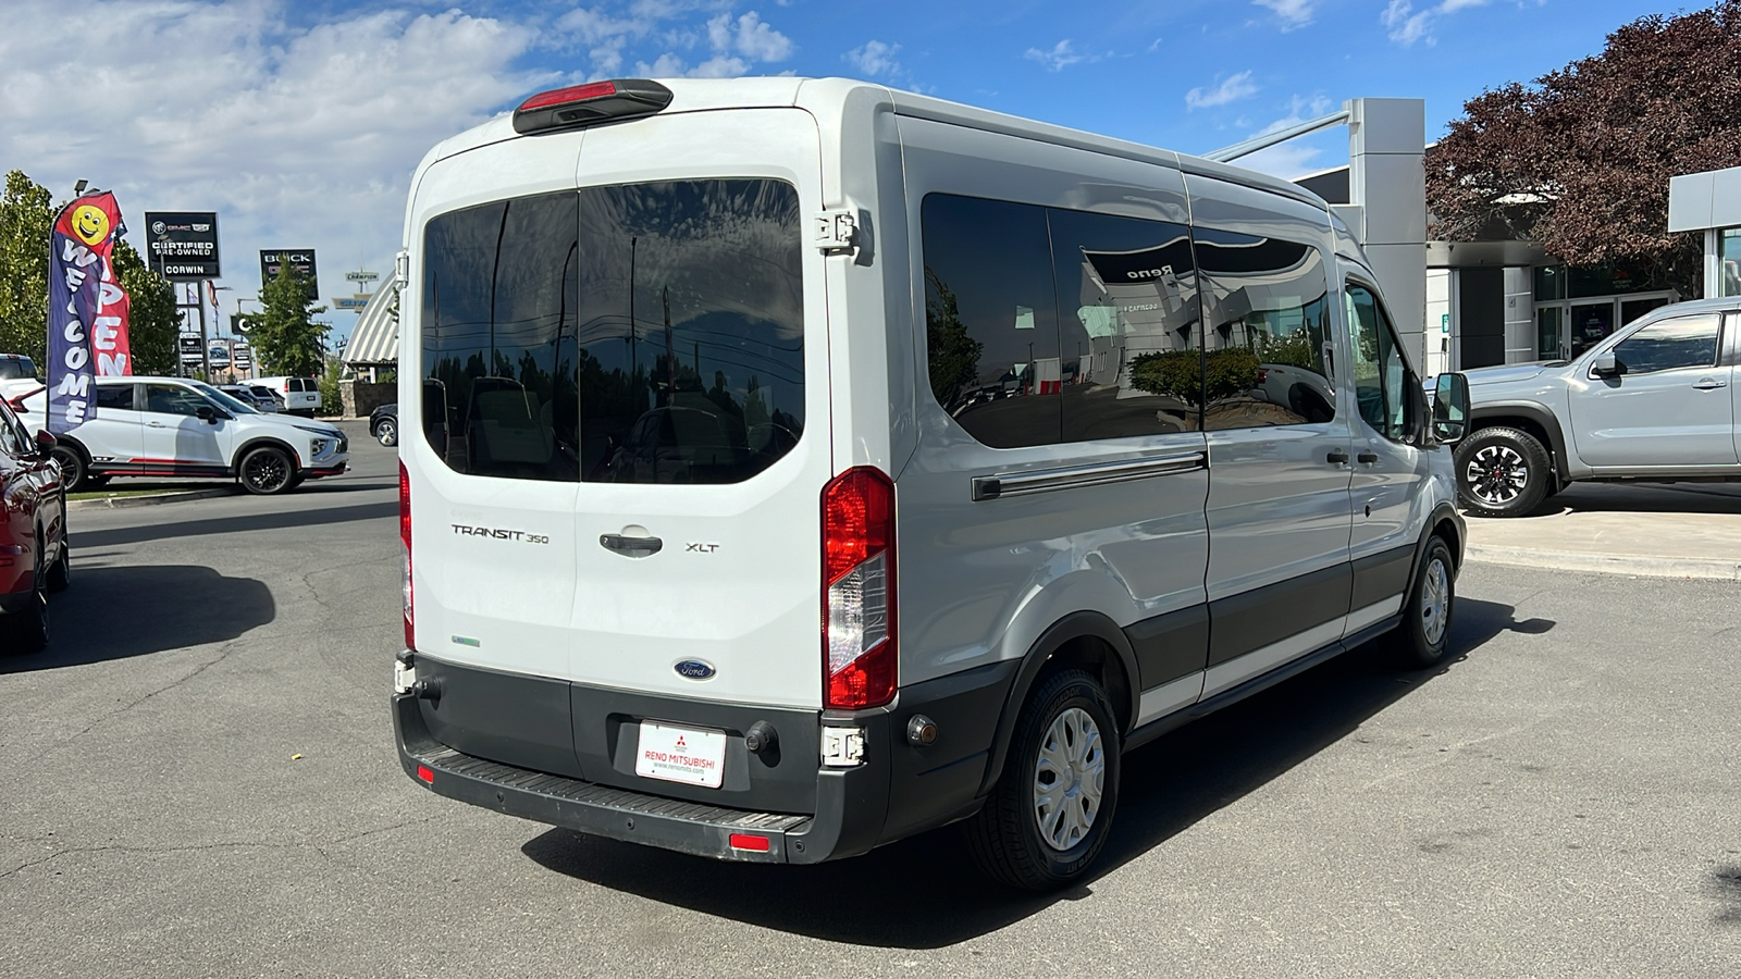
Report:
M73 514L0 658L0 976L1741 976L1741 585L1469 564L1374 648L1130 756L1106 873L952 831L728 866L406 779L390 449L284 498Z

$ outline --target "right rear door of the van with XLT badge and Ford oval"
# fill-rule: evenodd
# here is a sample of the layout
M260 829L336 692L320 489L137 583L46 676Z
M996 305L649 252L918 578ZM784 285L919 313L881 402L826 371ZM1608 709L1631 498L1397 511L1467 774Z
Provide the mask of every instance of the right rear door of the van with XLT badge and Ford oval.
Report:
M571 678L820 707L817 124L766 108L594 129L580 185Z

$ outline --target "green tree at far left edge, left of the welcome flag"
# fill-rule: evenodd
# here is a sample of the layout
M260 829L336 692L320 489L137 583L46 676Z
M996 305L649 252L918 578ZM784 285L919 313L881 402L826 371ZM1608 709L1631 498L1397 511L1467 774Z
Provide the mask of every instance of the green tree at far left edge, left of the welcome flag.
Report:
M49 235L54 197L24 176L5 174L0 193L0 354L42 364L49 343Z

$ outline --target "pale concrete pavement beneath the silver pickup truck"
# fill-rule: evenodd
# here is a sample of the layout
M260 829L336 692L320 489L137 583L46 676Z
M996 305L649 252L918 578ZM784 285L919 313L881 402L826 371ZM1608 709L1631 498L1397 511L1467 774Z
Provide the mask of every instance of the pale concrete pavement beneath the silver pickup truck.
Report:
M1741 483L1576 483L1537 516L1469 517L1468 557L1741 582Z

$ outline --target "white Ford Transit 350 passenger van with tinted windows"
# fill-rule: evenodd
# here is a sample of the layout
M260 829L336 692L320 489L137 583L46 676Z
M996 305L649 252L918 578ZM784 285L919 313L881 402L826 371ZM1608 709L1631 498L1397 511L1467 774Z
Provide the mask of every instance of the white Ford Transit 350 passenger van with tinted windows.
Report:
M1031 888L1119 754L1384 632L1447 655L1447 442L1299 186L846 80L618 80L406 219L406 772L689 854L970 820Z

